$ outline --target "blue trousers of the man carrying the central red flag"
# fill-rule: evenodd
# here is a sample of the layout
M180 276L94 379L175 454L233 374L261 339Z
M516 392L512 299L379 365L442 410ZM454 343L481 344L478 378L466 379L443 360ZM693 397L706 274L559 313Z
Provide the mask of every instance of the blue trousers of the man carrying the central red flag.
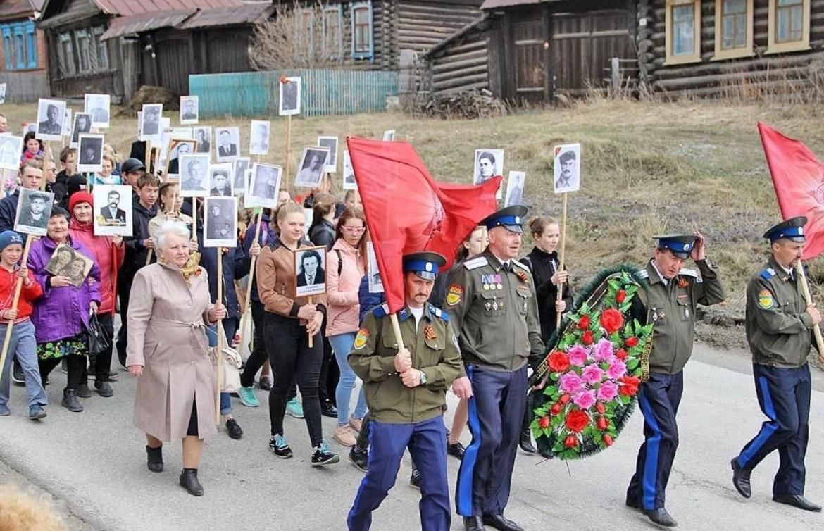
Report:
M420 471L420 525L424 531L448 531L449 481L447 479L447 430L440 415L414 424L369 423L369 470L363 477L346 524L350 531L372 526L376 510L395 485L400 459L407 447ZM397 527L397 522L394 524ZM382 525L390 529L393 525ZM405 527L405 526L400 526ZM406 526L408 527L408 526Z

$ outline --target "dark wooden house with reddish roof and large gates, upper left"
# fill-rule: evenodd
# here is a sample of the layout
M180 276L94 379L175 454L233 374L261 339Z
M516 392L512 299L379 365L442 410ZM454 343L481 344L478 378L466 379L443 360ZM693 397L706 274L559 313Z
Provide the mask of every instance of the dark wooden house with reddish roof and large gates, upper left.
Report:
M51 93L120 102L152 84L186 94L190 73L248 69L251 26L271 12L268 0L45 0Z

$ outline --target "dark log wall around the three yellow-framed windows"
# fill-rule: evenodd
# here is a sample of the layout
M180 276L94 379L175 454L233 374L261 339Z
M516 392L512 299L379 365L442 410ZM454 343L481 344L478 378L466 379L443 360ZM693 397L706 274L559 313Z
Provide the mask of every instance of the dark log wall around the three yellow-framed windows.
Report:
M775 10L775 0L744 0L734 7L747 9L746 24L738 26L746 27L746 39L742 38L742 48L727 58L716 47L716 39L726 42L722 36L716 35L720 0L637 0L641 76L655 92L689 91L699 96L723 96L749 84L758 84L767 90L807 86L812 79L821 78L824 69L821 66L824 60L824 0L798 2L803 18L793 16L794 22L787 27L793 28L792 31L799 30L808 43L794 46L796 49L784 47L782 50L781 45L775 44L778 40L775 24L770 23L770 10ZM674 5L689 4L700 6L700 32L696 35L698 53L686 60L672 58L672 53L667 57L667 43L672 47L673 39L672 21L671 35L667 37L667 10ZM733 4L728 6L733 8ZM794 27L795 21L799 20L803 21L803 26ZM770 31L773 31L772 35Z

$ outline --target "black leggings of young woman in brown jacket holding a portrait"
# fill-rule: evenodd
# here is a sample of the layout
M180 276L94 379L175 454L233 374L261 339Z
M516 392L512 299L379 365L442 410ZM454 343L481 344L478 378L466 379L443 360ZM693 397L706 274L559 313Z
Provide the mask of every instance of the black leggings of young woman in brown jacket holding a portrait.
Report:
M318 398L318 379L321 375L323 341L316 334L309 348L306 327L297 319L266 312L265 345L269 363L274 372L274 387L269 392L269 421L272 435L283 435L283 416L289 388L293 382L301 390L303 416L309 430L312 447L323 442L321 429L321 401Z

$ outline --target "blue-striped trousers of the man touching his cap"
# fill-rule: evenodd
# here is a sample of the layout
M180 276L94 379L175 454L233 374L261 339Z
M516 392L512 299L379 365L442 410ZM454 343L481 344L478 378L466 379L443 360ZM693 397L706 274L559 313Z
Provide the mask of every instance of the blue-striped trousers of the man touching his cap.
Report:
M644 510L664 506L672 461L678 449L676 415L684 392L684 373L650 373L641 384L638 403L644 415L644 443L638 451L635 474L626 491L627 502Z

